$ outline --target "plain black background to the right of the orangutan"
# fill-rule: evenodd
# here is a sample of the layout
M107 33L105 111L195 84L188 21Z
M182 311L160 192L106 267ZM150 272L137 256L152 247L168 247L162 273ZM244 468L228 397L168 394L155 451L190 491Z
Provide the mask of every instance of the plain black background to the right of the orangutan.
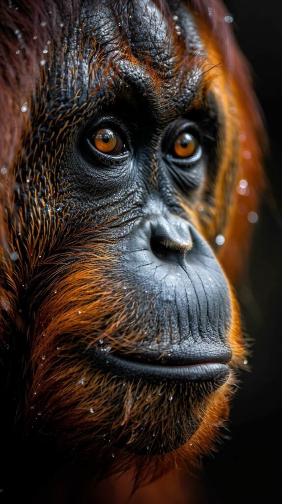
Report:
M282 2L228 0L236 38L253 69L270 140L251 258L239 298L253 338L251 373L242 373L230 440L204 462L209 504L282 502ZM206 501L207 497L205 498Z

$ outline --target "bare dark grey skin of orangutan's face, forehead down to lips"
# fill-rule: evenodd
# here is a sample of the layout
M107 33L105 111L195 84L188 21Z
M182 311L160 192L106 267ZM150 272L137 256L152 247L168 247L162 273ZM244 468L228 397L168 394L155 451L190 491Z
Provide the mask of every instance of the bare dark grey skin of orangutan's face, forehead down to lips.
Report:
M142 15L144 9L146 16ZM116 39L115 19L120 19L109 7L105 13L107 22L102 15L101 28L95 32L103 44ZM93 17L97 19L96 12ZM151 35L144 43L148 23ZM136 27L140 27L141 36ZM135 295L139 313L141 318L146 313L146 328L150 328L138 356L156 363L162 355L161 362L166 366L227 362L231 357L226 348L228 287L212 250L181 205L183 198L188 206L197 198L203 179L209 176L211 152L201 124L204 117L209 120L209 109L189 111L201 85L201 72L192 67L183 83L179 83L178 75L171 77L177 49L168 32L168 23L151 3L139 2L132 10L119 36L124 39L126 33L129 48L139 61L150 55L151 67L163 76L163 92L157 91L142 59L132 65L122 55L114 56L115 77L107 75L101 87L101 93L107 90L103 108L86 127L83 124L78 142L67 149L63 164L70 186L75 187L76 205L87 199L93 220L98 215L107 219L111 209L111 218L117 221L111 233L117 237L119 275L128 288L138 286ZM111 51L113 57L115 42ZM120 134L124 153L99 153L91 143L91 133L101 127ZM198 152L191 158L180 158L173 152L175 139L182 132L192 134L199 143ZM125 350L137 358L134 344ZM141 371L141 367L132 370ZM152 377L155 373L154 368ZM165 373L165 367L160 373ZM190 376L190 371L187 373ZM187 380L182 370L173 377Z

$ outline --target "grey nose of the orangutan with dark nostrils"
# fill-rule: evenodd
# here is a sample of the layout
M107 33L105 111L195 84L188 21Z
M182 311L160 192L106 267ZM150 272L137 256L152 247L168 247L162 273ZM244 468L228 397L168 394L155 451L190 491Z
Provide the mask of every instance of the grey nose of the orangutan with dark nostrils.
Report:
M144 217L135 230L135 244L146 243L160 261L178 263L192 249L193 241L189 223L181 217L158 214Z

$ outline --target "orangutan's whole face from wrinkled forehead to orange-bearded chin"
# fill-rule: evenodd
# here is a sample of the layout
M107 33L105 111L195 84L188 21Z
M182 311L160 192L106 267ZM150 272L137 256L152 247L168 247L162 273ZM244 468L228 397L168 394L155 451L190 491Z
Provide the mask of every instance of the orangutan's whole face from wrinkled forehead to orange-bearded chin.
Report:
M187 10L171 7L176 28L152 2L112 4L85 3L82 28L54 51L19 163L18 205L33 229L20 246L34 258L20 308L39 359L28 417L37 429L33 415L47 408L50 430L69 441L79 410L94 447L107 435L152 455L193 436L230 375L229 287L195 217L215 176L218 121L212 95L196 106L205 50ZM117 146L102 152L111 135ZM88 392L68 396L67 379ZM64 427L57 393L72 415Z

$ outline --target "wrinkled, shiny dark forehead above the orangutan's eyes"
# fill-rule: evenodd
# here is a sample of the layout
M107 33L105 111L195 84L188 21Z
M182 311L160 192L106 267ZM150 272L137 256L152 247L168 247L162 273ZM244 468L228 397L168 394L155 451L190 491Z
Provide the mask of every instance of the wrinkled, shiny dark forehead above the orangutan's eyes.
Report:
M165 87L169 94L181 88L189 99L200 85L201 39L192 14L179 2L161 8L156 0L86 0L78 26L77 43L67 44L67 73L76 64L78 80L87 86L90 79L93 87L99 83L113 91L134 81L134 87Z

